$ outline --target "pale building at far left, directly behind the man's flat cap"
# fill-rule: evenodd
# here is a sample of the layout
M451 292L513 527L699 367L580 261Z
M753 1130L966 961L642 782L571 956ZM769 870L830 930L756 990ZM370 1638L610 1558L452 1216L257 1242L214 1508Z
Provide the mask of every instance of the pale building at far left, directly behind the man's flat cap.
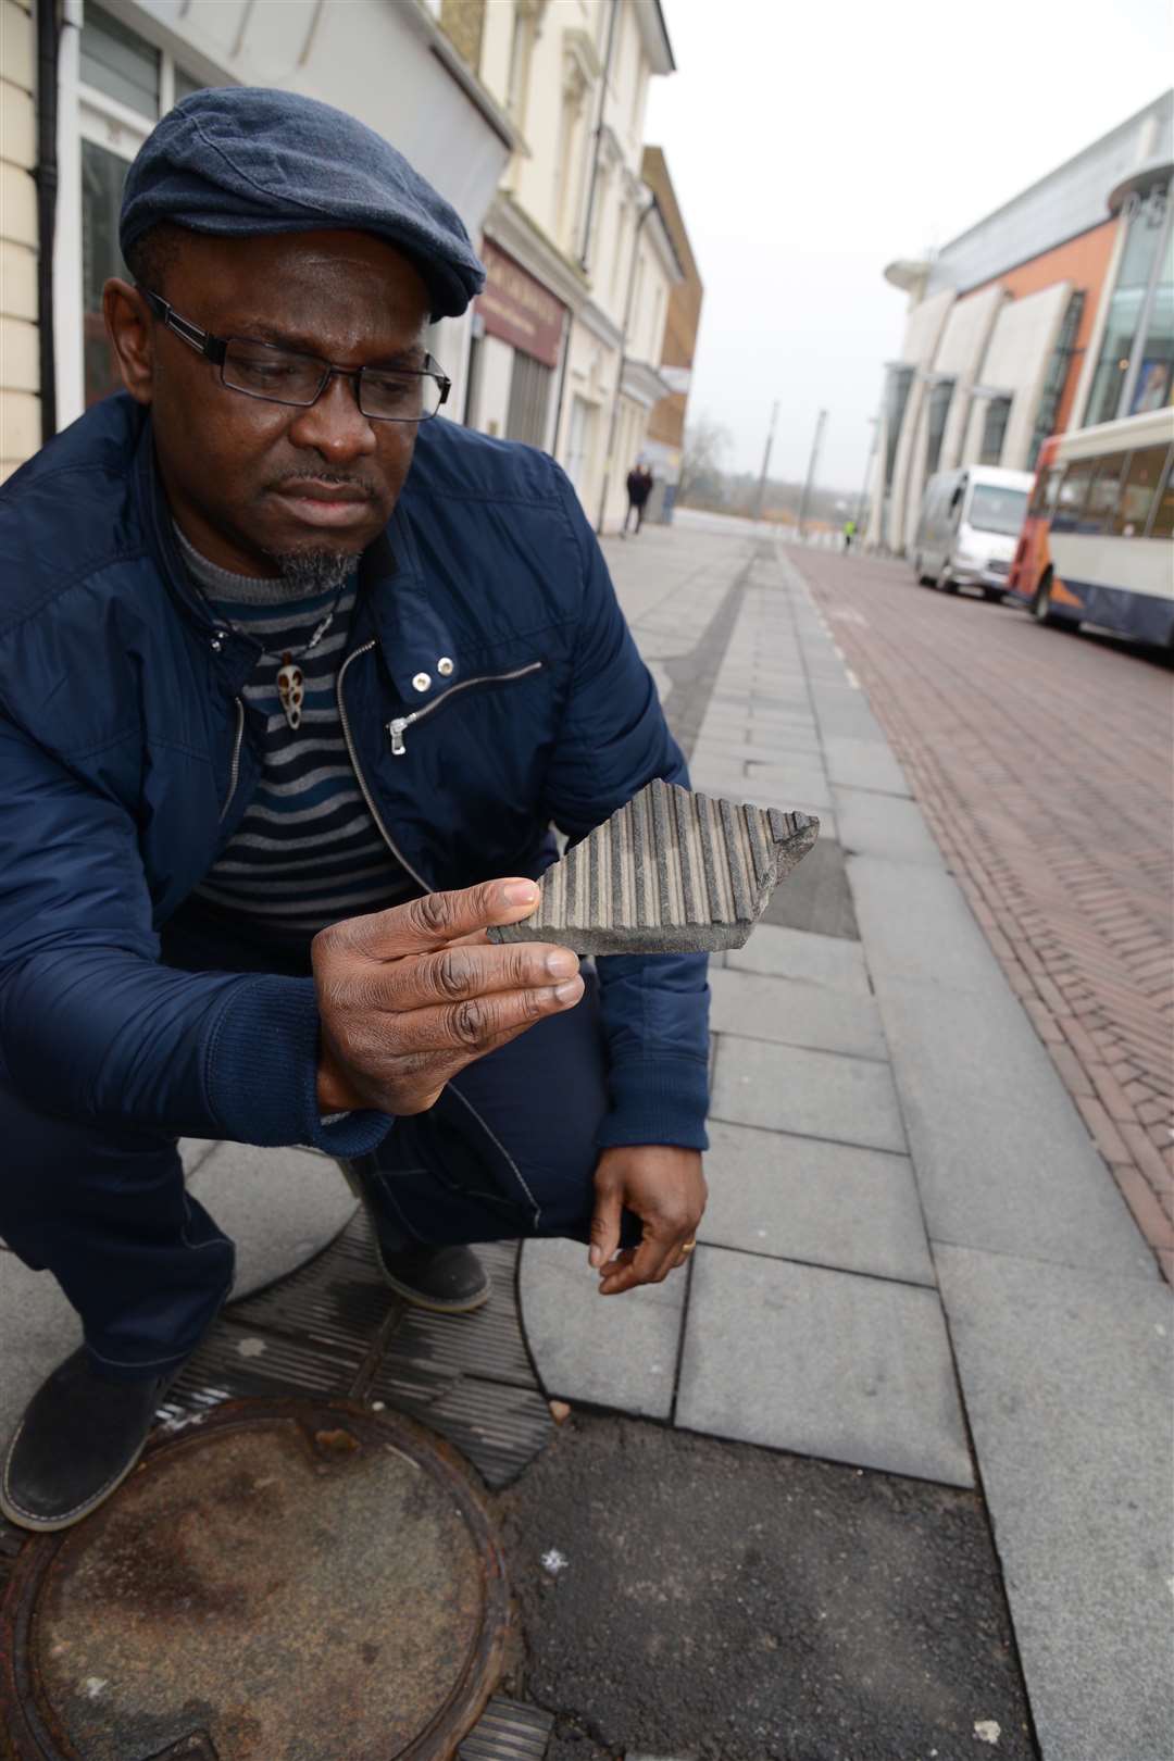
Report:
M114 384L100 299L123 273L123 176L185 93L287 86L350 111L473 239L517 144L424 0L0 0L0 69L2 475ZM429 336L458 417L472 328Z

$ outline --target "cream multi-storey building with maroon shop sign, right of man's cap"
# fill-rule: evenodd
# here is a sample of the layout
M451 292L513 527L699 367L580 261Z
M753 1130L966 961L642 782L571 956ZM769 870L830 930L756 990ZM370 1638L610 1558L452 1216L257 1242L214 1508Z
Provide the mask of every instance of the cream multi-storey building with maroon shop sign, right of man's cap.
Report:
M598 528L646 449L683 278L641 178L648 85L672 72L660 0L438 0L517 144L484 222L465 419L544 446Z

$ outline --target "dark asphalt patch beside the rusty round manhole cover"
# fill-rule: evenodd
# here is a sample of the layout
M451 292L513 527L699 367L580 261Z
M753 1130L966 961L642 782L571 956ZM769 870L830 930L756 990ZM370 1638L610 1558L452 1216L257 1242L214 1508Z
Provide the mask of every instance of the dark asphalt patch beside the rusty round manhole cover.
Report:
M576 1414L496 1513L547 1761L1037 1756L975 1493Z

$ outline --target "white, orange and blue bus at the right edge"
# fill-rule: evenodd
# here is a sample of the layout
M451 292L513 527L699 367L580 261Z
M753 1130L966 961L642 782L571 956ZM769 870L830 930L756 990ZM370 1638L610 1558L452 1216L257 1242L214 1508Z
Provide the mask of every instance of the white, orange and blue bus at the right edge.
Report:
M1040 623L1174 646L1174 410L1053 435L1010 567Z

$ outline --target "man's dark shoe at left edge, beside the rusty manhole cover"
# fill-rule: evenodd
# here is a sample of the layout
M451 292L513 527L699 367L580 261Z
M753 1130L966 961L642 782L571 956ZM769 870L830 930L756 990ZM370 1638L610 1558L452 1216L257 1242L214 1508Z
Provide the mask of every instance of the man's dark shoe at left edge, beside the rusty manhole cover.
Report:
M40 1384L0 1469L0 1511L21 1529L69 1529L121 1486L180 1368L109 1382L84 1345Z

